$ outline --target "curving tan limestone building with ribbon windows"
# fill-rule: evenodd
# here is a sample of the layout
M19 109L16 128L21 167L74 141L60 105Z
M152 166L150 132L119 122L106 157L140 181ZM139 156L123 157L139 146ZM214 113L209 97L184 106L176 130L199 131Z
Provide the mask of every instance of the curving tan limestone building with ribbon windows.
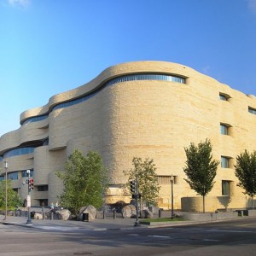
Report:
M219 160L208 211L247 207L249 198L236 186L236 155L256 145L256 98L190 67L163 61L137 61L109 67L96 79L52 96L42 108L20 114L20 128L0 138L8 178L26 198L26 170L32 172L32 205L57 201L67 156L79 148L97 150L108 166L108 203L130 201L124 195L123 170L134 156L154 159L159 176L159 206L201 210L201 197L183 180L184 147L209 138ZM1 179L4 179L4 168Z

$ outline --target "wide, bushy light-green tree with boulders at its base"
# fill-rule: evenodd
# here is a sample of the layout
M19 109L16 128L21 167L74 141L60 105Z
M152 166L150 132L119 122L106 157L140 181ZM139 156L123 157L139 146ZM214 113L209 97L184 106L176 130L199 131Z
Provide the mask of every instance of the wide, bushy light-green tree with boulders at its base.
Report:
M64 172L55 172L64 185L61 205L76 216L81 207L101 207L108 187L108 170L102 164L101 155L90 151L84 156L76 149L69 155L64 169Z

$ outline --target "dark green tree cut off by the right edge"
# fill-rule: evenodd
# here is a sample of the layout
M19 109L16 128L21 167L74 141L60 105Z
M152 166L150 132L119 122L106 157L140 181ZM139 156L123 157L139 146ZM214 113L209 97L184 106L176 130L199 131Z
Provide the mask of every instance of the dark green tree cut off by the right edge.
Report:
M238 177L239 187L252 199L256 195L256 151L249 153L247 150L236 156L235 174Z

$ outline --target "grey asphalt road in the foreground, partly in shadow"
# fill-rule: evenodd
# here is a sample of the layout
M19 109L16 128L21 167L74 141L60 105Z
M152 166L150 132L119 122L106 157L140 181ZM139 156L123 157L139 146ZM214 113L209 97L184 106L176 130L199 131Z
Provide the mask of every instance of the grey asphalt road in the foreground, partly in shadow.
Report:
M256 255L256 218L169 228L0 225L0 255Z

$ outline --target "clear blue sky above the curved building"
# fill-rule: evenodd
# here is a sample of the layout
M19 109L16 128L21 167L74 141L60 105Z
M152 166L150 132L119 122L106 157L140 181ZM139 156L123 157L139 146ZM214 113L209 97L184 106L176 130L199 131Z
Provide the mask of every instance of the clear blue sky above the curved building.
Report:
M0 0L0 136L127 61L171 61L256 95L256 0Z

